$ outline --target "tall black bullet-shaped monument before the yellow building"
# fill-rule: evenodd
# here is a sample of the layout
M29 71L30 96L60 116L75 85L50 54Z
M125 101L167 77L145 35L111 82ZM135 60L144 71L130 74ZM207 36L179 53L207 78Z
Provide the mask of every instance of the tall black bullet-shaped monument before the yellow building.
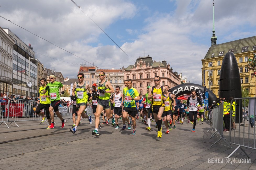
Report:
M219 92L220 98L242 98L239 68L237 65L236 57L232 52L226 53L225 57L222 60L222 65L220 69ZM239 123L238 115L240 102L237 100L236 103L236 123ZM240 113L240 123L242 123L242 107L240 108Z

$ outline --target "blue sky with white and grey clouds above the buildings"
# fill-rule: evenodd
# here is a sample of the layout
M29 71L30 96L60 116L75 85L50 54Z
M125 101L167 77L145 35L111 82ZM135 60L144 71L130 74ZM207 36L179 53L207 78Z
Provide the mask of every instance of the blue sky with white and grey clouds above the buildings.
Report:
M166 60L191 83L202 84L202 62L213 27L211 0L3 0L0 18L26 44L44 67L75 78L79 65L94 62L101 69L134 64L139 56ZM215 0L217 44L256 35L255 0ZM49 58L51 57L51 58ZM69 63L61 62L59 59ZM70 64L73 63L73 64Z

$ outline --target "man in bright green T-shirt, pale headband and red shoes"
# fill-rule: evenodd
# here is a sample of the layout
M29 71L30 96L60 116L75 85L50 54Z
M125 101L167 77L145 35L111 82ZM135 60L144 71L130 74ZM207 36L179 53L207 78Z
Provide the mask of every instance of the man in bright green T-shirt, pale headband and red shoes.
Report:
M53 129L55 126L53 111L61 120L61 128L64 128L66 120L62 118L58 107L60 105L59 88L62 88L61 94L64 94L65 87L63 86L62 83L56 81L56 77L54 75L50 75L49 79L50 79L50 83L48 83L46 88L43 90L43 94L45 94L47 92L47 89L49 89L48 93L50 93L50 96L51 96L51 106L49 107L49 112L50 112L51 121L52 121L50 129Z

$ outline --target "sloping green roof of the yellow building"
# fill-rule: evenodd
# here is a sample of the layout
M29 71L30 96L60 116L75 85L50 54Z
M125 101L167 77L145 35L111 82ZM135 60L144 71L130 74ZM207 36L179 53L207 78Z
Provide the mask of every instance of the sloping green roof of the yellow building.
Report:
M247 52L249 51L256 51L253 50L253 46L256 45L256 36L243 38L240 40L230 41L227 43L216 44L212 45L208 52L206 53L204 59L212 58L212 54L214 53L213 57L219 57L219 53L223 52L223 56L231 50L233 50L233 54L242 53L242 48L247 47Z

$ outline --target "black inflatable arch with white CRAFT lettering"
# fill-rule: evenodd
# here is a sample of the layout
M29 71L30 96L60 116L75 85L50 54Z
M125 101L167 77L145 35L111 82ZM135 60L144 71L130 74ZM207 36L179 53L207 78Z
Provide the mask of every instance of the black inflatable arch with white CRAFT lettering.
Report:
M172 93L176 95L176 98L179 98L180 96L191 94L191 90L196 90L196 95L198 95L198 89L202 89L204 91L204 86L201 86L199 84L194 83L185 83L180 84L178 86L172 87ZM209 106L213 104L213 101L217 98L216 95L209 89L206 89L206 91L209 93Z

